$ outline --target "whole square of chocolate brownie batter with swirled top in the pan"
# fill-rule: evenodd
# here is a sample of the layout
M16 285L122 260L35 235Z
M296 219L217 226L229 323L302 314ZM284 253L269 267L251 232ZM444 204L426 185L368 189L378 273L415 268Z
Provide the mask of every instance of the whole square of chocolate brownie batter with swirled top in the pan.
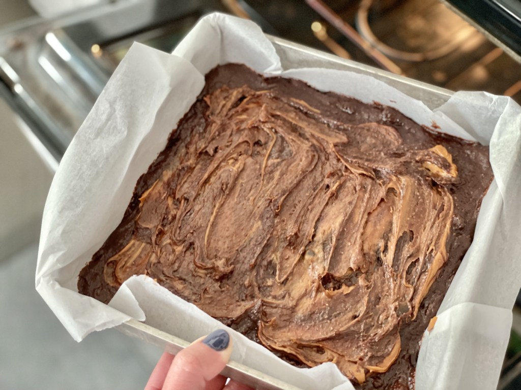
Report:
M297 365L414 388L491 180L487 147L220 66L78 289L107 303L145 274Z

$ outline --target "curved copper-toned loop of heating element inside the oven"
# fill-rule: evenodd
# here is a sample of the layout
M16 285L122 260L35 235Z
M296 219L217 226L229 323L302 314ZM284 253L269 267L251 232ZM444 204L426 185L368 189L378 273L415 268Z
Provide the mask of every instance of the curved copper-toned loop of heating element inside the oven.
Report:
M469 26L463 30L463 33L458 33L456 39L450 40L449 42L444 42L436 49L420 51L418 53L398 50L381 42L371 30L369 25L369 10L373 3L374 0L362 0L360 3L360 7L358 8L358 12L356 14L356 24L358 31L360 32L360 35L362 35L364 39L371 44L371 46L375 47L378 51L385 54L386 56L398 60L420 62L438 59L457 49L464 41L467 40L470 34L474 32L474 29ZM429 28L429 25L425 25L425 28Z

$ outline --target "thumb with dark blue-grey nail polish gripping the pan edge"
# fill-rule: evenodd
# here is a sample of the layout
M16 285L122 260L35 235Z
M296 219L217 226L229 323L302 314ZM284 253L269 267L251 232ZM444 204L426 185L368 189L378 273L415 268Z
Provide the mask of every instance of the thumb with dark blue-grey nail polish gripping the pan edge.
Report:
M225 368L231 349L230 335L222 329L194 341L173 359L163 388L204 390L206 383Z

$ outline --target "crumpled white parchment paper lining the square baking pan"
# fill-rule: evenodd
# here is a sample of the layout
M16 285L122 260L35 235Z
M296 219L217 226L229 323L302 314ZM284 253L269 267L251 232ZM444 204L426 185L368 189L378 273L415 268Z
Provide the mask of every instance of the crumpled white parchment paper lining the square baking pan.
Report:
M424 335L416 389L494 389L521 285L521 108L506 97L456 93L430 111L370 76L325 69L282 70L274 47L253 23L222 14L203 18L172 55L134 44L72 140L45 205L36 289L72 337L129 318L187 341L223 327L145 276L123 283L110 305L77 292L77 276L119 224L138 177L219 63L302 79L366 102L395 107L420 124L490 144L495 179L483 200L475 239ZM296 369L229 330L232 359L308 390L348 390L332 363Z

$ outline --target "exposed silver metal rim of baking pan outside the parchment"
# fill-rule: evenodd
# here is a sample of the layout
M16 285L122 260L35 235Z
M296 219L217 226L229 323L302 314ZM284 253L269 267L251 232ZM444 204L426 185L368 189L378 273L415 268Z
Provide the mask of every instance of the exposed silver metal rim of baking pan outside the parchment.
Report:
M362 63L346 60L320 50L295 44L282 38L269 35L267 37L274 45L284 69L313 67L367 74L387 83L412 98L422 101L431 110L441 106L444 102L449 100L453 94L453 92L448 89L408 79L407 77L373 68ZM147 343L157 345L171 354L178 353L181 349L190 344L185 340L179 339L179 337L160 331L148 326L146 323L136 320L124 322L117 326L116 329ZM221 374L257 389L300 390L299 387L272 378L271 376L235 361L230 361Z

